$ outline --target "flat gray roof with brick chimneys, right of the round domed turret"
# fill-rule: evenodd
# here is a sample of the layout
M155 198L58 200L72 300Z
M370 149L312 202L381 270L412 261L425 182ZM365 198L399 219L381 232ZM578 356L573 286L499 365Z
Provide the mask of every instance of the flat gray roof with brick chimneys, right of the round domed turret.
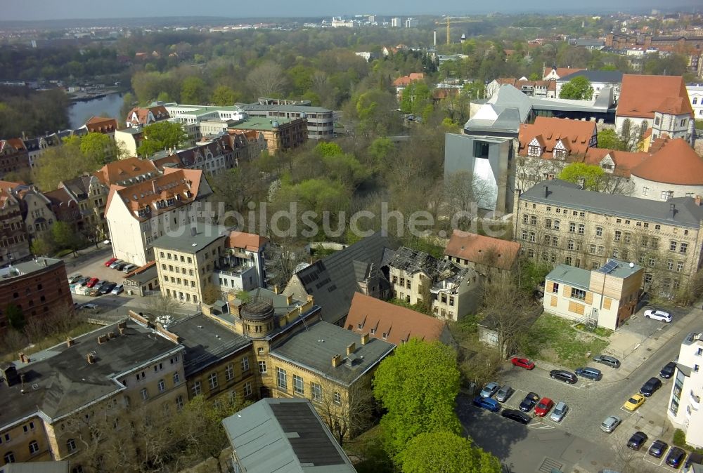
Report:
M336 368L332 366L332 358L340 354L344 359L347 346L352 343L356 344L352 366L347 366L345 362ZM319 321L309 326L307 331L293 335L272 349L271 356L291 361L342 385L351 385L394 348L392 343L378 338L369 338L366 345L361 345L359 334ZM289 388L292 390L292 386L289 385Z

